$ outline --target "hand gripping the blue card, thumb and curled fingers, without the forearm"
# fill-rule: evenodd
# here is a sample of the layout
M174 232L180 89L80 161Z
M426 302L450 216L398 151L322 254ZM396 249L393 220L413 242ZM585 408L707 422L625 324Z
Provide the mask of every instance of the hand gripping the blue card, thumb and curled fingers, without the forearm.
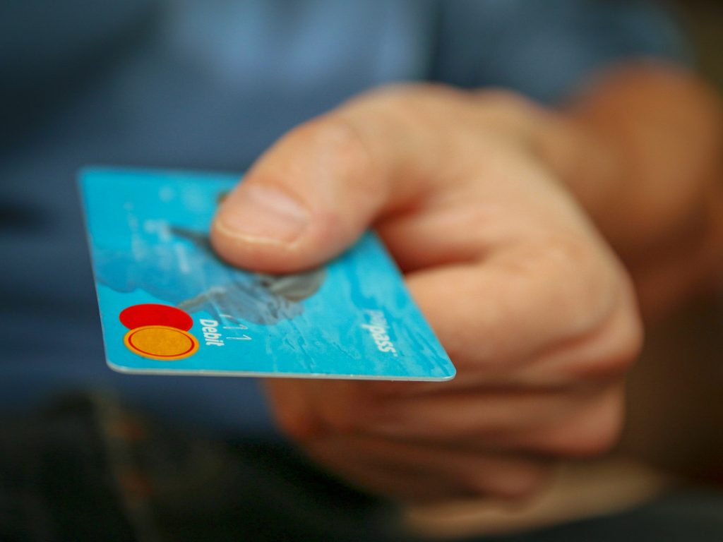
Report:
M283 137L213 225L229 262L313 267L374 225L455 362L452 382L274 380L283 429L406 501L517 498L603 452L641 342L630 280L500 93L382 90Z

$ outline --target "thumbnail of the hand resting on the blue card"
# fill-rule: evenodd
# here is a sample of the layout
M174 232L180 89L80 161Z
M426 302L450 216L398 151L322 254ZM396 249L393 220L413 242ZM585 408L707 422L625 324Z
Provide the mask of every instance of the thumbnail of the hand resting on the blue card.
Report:
M223 203L221 233L247 241L291 243L309 224L309 211L280 190L241 186Z

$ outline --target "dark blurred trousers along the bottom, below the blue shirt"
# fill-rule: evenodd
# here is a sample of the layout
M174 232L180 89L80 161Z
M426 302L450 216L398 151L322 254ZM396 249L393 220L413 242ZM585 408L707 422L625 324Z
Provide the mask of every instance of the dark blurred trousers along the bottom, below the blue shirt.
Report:
M106 395L69 397L2 427L2 541L418 541L403 535L393 507L334 481L286 444L192 436ZM723 494L688 489L627 512L485 540L719 542Z

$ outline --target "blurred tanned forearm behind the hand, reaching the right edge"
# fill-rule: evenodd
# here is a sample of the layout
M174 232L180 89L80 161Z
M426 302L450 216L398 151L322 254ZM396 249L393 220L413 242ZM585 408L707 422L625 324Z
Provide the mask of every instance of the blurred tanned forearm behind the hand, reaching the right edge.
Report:
M622 66L536 132L543 159L628 264L644 310L720 276L723 105L693 74Z

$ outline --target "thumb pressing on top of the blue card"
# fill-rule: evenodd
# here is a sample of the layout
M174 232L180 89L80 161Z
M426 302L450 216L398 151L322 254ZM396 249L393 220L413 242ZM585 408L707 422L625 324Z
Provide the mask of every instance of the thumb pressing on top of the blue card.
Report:
M430 154L430 136L391 120L385 110L394 100L382 101L310 121L265 152L218 210L211 229L218 254L266 272L315 267L421 194L428 175L417 173L429 171L420 157Z

